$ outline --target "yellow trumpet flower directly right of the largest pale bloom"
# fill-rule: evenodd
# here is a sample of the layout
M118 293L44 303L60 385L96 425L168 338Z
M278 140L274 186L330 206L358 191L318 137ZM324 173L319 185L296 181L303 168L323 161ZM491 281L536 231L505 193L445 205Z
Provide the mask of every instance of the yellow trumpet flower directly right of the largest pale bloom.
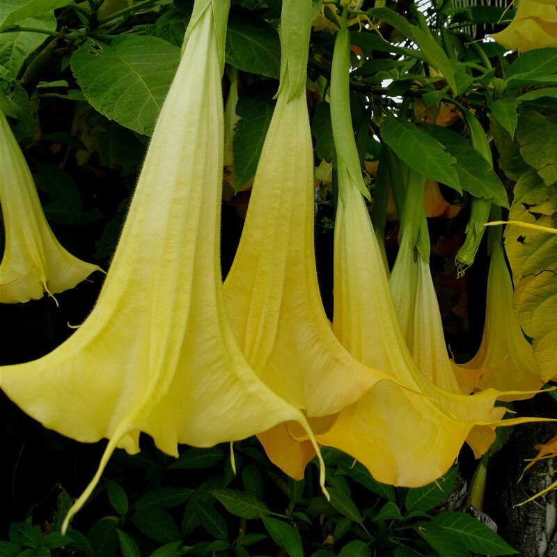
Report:
M305 90L310 29L311 1L283 1L278 98L224 292L233 330L251 366L285 400L319 417L352 404L390 377L369 370L338 342L317 285ZM299 453L292 460L298 444L284 429L276 435L290 439L288 450L269 435L260 440L271 460L293 477L303 477L307 458Z

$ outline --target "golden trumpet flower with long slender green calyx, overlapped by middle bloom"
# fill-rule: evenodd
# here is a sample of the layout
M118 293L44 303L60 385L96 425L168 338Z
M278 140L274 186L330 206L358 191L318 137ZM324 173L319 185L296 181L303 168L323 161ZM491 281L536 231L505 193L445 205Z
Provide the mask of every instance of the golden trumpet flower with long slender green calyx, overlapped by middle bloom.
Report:
M468 397L432 384L416 368L400 336L382 256L362 198L365 187L348 102L349 47L344 27L336 39L330 89L340 194L334 333L358 361L389 372L395 382L378 382L336 416L320 418L319 423L311 420L311 424L321 444L349 453L377 480L416 487L446 472L476 427L492 432L503 410L493 408L495 391ZM288 432L303 439L295 427L288 426ZM485 451L492 439L481 434L483 430L476 448ZM301 444L300 458L304 450Z

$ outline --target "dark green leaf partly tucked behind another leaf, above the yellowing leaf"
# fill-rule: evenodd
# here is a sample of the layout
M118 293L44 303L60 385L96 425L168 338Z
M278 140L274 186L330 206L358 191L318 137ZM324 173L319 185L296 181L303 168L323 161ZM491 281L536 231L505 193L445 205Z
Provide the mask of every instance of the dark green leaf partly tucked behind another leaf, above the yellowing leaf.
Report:
M457 163L454 168L462 189L473 196L508 207L507 191L487 160L469 141L446 127L423 124L423 130L446 147Z

